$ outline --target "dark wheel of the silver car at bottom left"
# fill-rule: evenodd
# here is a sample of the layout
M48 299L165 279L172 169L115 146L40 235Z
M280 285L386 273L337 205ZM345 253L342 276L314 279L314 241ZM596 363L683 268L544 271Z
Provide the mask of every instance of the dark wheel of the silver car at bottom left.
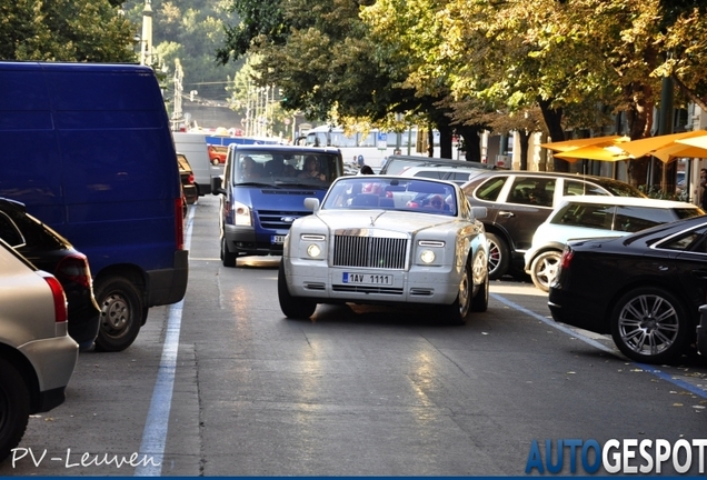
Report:
M30 396L20 372L0 359L0 461L8 458L27 429Z

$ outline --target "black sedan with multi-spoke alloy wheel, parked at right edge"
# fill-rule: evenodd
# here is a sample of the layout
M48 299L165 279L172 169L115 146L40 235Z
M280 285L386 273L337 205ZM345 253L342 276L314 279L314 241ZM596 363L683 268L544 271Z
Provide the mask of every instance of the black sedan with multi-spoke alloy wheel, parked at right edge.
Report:
M669 363L694 350L707 294L707 216L615 239L570 242L550 286L552 318L610 333L631 360Z

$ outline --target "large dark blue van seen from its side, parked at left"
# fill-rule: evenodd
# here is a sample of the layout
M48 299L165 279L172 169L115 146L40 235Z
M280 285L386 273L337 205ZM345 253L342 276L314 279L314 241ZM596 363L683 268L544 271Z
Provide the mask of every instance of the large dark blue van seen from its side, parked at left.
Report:
M0 62L0 197L89 259L97 350L128 348L152 306L185 296L177 154L148 67Z

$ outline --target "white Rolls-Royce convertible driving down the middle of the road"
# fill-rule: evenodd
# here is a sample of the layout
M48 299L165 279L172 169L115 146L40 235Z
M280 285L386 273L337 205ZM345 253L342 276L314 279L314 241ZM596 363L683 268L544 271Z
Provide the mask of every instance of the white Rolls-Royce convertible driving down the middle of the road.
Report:
M288 318L317 303L439 306L461 323L488 307L488 243L455 183L400 177L336 180L285 240L278 298Z

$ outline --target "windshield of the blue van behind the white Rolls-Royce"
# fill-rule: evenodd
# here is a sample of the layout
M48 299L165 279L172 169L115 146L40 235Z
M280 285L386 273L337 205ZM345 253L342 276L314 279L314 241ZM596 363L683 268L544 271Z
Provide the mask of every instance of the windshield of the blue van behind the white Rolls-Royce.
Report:
M241 150L233 156L233 184L258 183L280 187L307 184L328 187L341 176L335 153Z

